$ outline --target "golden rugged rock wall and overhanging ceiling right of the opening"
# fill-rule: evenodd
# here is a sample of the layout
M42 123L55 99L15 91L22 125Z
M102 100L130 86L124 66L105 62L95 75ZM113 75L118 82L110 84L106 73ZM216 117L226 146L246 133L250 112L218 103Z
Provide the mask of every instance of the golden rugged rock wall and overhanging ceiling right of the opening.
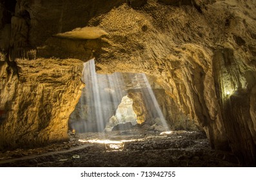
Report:
M195 3L200 10L156 1L140 10L124 4L92 19L108 32L108 46L95 52L99 72L156 76L213 148L255 163L255 3Z

